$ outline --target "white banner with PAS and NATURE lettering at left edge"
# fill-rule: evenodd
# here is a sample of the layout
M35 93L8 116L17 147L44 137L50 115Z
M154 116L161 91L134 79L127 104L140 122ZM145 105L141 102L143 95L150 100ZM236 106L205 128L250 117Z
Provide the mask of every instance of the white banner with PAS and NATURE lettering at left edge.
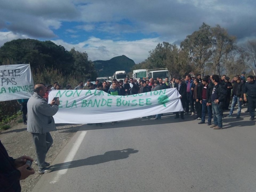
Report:
M34 81L29 64L0 66L0 101L29 99Z

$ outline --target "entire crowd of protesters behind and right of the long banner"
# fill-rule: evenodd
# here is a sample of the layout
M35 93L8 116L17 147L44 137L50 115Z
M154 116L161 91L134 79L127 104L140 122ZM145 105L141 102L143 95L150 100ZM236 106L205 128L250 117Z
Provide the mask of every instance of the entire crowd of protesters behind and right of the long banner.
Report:
M231 80L231 81L230 81ZM49 90L61 89L58 82L54 82L53 86L45 85L47 92L44 98L48 99ZM233 111L237 104L238 111L236 118L240 118L242 104L247 105L245 112L250 113L250 120L254 120L254 112L256 108L256 83L255 77L247 76L245 79L245 72L242 75L236 75L230 79L226 75L221 77L218 75L191 76L186 75L185 78L177 76L169 81L169 78L150 78L136 79L126 77L124 80L117 81L113 79L110 81L91 83L88 79L86 84L83 81L78 82L75 90L102 90L111 95L132 95L138 93L145 93L161 89L176 88L180 93L180 100L184 111L176 112L175 118L184 119L184 115L191 114L196 120L200 120L198 124L206 123L213 129L222 129L223 111L229 110L227 117L233 117ZM70 84L66 89L72 89ZM231 107L230 100L232 98ZM247 104L248 103L248 104ZM163 114L157 114L155 119L161 119ZM213 120L213 122L212 122Z

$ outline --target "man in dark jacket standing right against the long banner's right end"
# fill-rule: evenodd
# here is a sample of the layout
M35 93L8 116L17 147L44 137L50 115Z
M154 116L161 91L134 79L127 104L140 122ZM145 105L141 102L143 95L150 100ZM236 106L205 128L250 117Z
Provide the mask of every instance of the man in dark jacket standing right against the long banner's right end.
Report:
M186 107L186 99L187 99L187 84L182 81L181 77L176 77L174 88L177 88L178 92L181 95L180 101L184 110ZM180 116L179 116L179 112L176 112L175 114L176 114L175 119L178 119L179 117L181 119L184 119L184 111L180 112Z

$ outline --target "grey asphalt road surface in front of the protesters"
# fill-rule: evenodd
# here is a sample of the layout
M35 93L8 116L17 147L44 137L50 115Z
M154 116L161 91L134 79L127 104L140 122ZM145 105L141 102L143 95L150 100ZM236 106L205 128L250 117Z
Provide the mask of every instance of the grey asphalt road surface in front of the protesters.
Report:
M222 130L173 114L82 125L33 191L256 191L255 121L241 115Z

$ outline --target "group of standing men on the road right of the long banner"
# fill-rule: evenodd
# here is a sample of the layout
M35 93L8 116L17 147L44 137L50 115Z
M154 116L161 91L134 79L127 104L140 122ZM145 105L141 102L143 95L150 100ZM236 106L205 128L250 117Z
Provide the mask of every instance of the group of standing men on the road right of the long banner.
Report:
M175 78L174 87L181 95L180 100L185 114L188 114L190 106L191 115L196 112L195 119L201 120L198 124L204 124L206 112L208 112L207 125L213 129L222 129L223 110L229 110L231 97L232 104L227 117L232 117L237 104L236 118L240 118L242 100L244 99L244 101L248 100L250 120L255 119L256 83L253 76L248 76L247 82L245 82L242 80L244 75L245 73L242 74L242 78L239 75L234 76L231 82L229 82L230 78L225 75L221 78L218 75L204 76L203 79L200 78L201 76L196 78L187 75L185 81L182 81L181 77ZM180 113L180 117L184 119L184 112ZM175 118L179 118L179 112L176 112Z

